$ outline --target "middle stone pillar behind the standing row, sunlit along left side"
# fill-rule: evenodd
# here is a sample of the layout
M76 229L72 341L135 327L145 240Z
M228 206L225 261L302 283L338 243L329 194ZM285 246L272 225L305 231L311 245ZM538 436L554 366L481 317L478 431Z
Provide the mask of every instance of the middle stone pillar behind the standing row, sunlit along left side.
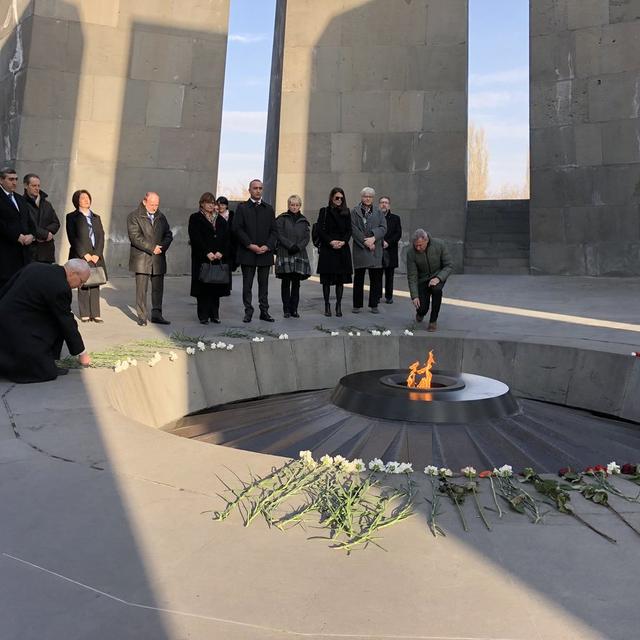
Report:
M265 176L315 220L339 185L389 195L405 240L424 227L462 264L467 0L280 0ZM275 82L280 83L278 74Z

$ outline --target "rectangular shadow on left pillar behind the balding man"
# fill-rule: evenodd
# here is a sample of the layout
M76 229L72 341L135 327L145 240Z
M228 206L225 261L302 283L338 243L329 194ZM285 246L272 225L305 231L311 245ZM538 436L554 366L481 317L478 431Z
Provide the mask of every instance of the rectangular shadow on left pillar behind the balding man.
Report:
M114 274L128 270L127 216L147 191L160 195L173 231L168 272L190 272L189 215L217 181L226 43L226 30L131 25L107 233Z

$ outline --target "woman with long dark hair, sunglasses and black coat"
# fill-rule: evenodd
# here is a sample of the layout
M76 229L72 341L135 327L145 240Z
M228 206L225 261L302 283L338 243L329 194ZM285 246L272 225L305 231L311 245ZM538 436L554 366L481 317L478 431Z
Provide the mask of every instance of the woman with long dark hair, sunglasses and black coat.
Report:
M351 282L351 212L344 190L334 187L329 194L329 204L320 209L317 222L320 246L318 269L324 296L324 315L331 316L329 296L331 286L336 287L336 316L342 316L342 294L345 283Z

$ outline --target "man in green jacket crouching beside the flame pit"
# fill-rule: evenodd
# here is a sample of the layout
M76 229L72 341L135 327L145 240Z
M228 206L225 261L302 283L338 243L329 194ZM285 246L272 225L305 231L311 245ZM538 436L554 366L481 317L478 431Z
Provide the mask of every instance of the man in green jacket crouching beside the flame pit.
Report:
M442 288L453 271L451 258L444 242L430 238L424 229L417 229L411 241L413 246L407 251L407 280L416 308L416 322L422 322L427 315L433 298L427 331L435 331L442 304Z

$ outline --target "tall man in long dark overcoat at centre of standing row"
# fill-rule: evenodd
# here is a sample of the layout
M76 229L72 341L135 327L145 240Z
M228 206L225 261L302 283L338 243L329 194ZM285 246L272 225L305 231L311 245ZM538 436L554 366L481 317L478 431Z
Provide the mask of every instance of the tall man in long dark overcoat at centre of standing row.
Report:
M269 271L278 243L276 214L262 200L262 182L249 183L250 198L238 205L233 218L233 233L237 241L237 263L242 269L243 322L251 322L253 279L258 272L258 304L260 320L273 322L269 315Z

